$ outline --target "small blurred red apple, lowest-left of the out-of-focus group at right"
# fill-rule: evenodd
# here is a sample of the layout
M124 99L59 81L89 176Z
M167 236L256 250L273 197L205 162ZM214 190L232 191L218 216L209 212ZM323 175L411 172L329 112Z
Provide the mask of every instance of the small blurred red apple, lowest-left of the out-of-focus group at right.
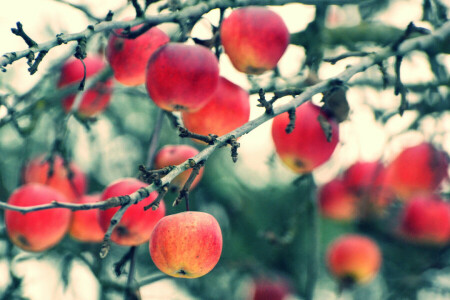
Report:
M327 218L352 221L358 216L359 199L341 179L333 179L322 186L318 193L319 208Z

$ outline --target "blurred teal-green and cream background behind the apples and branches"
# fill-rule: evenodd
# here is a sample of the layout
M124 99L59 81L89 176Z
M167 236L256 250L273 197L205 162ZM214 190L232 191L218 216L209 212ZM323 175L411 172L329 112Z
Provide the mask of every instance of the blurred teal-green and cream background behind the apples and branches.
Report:
M25 49L23 40L10 31L18 21L40 43L61 32L84 30L96 22L92 17L102 19L108 10L116 12L115 20L135 14L125 0L70 3L85 8L89 15L63 1L17 0L3 4L0 53ZM147 15L157 14L163 3L152 4ZM441 24L438 12L442 7L436 4L440 1L364 3L359 7L349 4L321 8L325 14L319 27L319 57L358 50L376 52L395 42L410 22L431 30ZM427 3L433 9L427 11ZM257 107L260 87L267 90L303 87L312 73L326 79L361 60L350 57L334 65L321 60L311 62L311 57L318 55L307 47L312 42L298 37L317 34L308 26L317 19L316 7L287 4L271 9L280 14L292 34L291 44L276 71L247 76L236 71L225 54L220 57L220 74L251 93L250 119L264 113L263 108ZM226 10L225 16L230 12ZM218 20L217 10L206 14L193 28L191 37L211 38L211 24L217 25ZM163 24L160 28L171 36L177 35L175 24ZM89 41L88 51L103 53L107 37L107 33L95 35ZM40 99L18 124L1 123L8 110L0 105L0 201L6 202L20 186L22 167L37 155L49 153L54 145L64 115L60 99L47 95L54 91L59 69L74 47L74 43L69 43L52 49L33 76L27 71L25 59L8 66L8 71L0 75L0 95L16 95L24 102ZM352 78L347 91L350 114L339 125L338 147L331 159L311 176L299 176L282 164L272 142L271 121L239 139L237 163L232 162L229 147L216 151L207 161L203 178L190 198L191 210L208 212L218 220L224 237L221 259L202 278L157 280L161 273L150 259L148 244L139 246L135 280L142 285L142 299L251 299L255 282L261 278L288 287L289 295L280 299L304 299L314 283L311 273L315 272L318 277L314 299L449 299L448 241L430 246L393 235L398 222L393 218L398 216L403 204L383 208L386 212L380 218L357 217L350 221L322 216L317 206L311 204L311 200L316 201L317 189L342 176L355 162L380 161L387 165L406 147L422 142L432 143L448 155L449 66L450 57L445 53L430 57L413 52L403 59L401 75L409 90L407 98L411 108L403 116L398 114L401 97L394 95L393 58L385 63L390 80L384 89L377 67ZM316 95L313 101L319 103L321 98ZM280 102L288 100L286 97ZM87 174L89 194L101 192L116 179L138 176L138 165L147 160L158 110L144 86L129 88L115 82L112 101L95 122L86 126L75 118L69 120L64 149ZM158 148L167 144L204 148L178 137L170 120L164 118ZM448 174L448 170L445 172ZM448 183L448 178L444 179L436 190L444 200L448 200ZM171 206L175 197L175 193L165 197L168 214L184 210L184 207ZM100 261L98 244L80 243L66 237L49 251L28 253L11 244L1 224L0 291L3 296L0 299L123 299L126 265L120 276L114 274L113 266L128 251L126 247L113 245L108 257ZM369 284L340 292L326 268L325 253L328 245L345 233L373 238L382 251L383 264ZM152 278L155 282L151 282Z

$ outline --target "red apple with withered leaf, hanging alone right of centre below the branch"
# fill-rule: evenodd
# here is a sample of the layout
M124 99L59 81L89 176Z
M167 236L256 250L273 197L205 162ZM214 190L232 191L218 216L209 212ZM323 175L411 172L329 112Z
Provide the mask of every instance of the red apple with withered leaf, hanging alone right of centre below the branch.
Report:
M295 129L290 134L285 131L289 124L287 112L273 119L272 138L277 154L288 168L296 173L308 173L330 158L339 141L339 127L310 101L297 107L295 114ZM331 125L330 142L318 121L319 116Z

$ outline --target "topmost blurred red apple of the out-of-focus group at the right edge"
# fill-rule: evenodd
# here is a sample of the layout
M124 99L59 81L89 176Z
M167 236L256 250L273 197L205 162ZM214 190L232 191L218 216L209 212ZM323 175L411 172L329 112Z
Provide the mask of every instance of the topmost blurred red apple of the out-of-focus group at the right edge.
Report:
M418 193L428 194L448 178L448 164L447 153L424 142L404 149L386 167L384 184L403 201Z

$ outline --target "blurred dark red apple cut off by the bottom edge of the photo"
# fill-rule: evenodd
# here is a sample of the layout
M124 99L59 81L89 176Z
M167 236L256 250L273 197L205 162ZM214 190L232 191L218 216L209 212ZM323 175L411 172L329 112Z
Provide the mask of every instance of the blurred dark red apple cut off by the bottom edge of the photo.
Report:
M258 278L253 282L249 300L284 300L290 294L289 284L279 278Z

